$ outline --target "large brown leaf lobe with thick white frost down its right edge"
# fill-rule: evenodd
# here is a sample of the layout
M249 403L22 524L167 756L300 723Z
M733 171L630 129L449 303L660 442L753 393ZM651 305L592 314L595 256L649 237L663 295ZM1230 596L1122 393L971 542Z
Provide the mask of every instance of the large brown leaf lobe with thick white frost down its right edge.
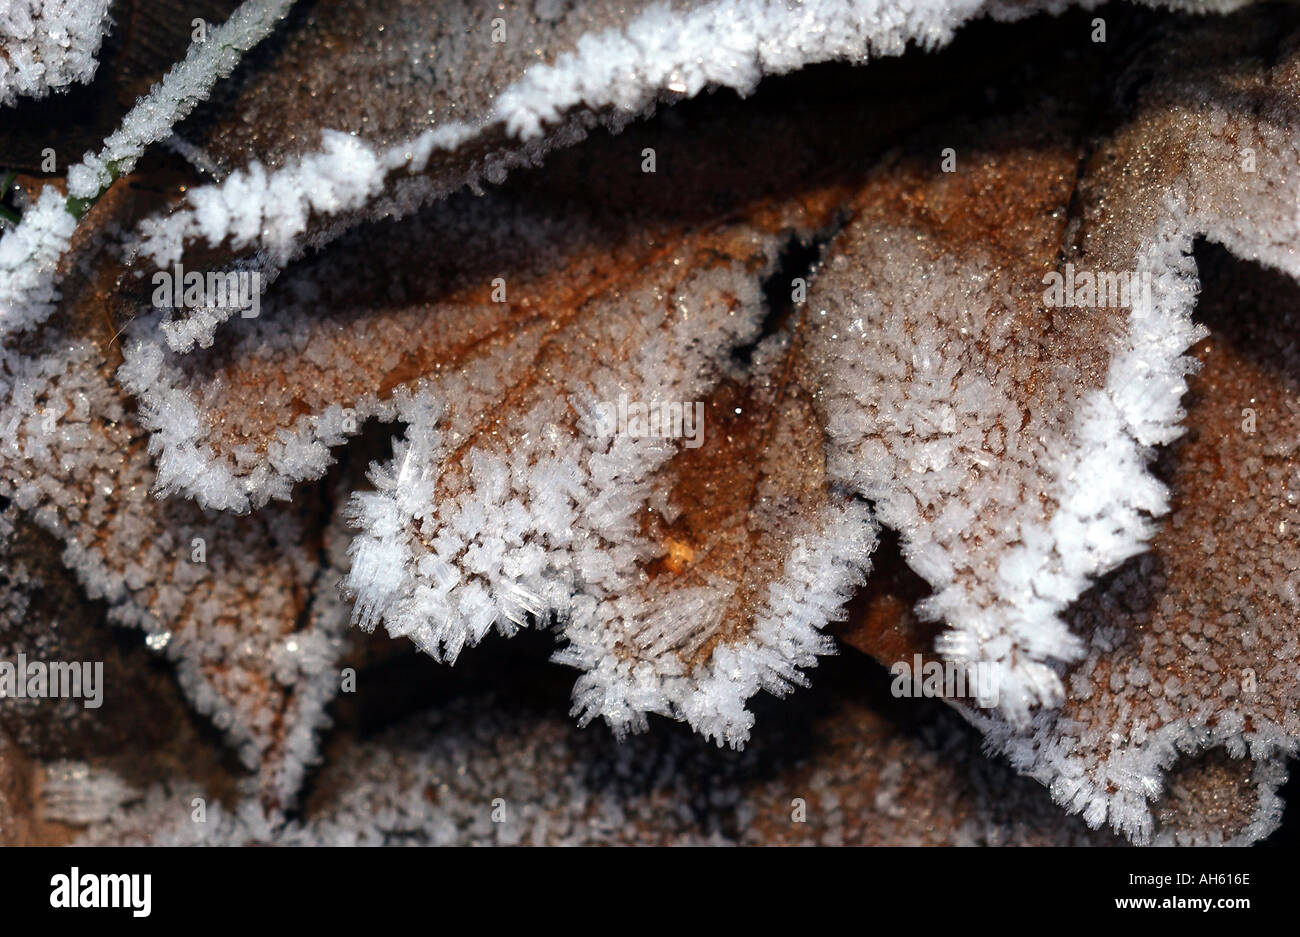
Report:
M1264 32L1183 42L1244 70ZM1234 74L1284 110L1287 70ZM997 667L1018 724L1063 699L1052 663L1082 656L1061 612L1166 511L1145 467L1179 431L1182 352L1197 337L1191 238L1295 272L1275 234L1296 225L1295 144L1254 117L1249 86L1222 88L1221 75L1144 88L1076 185L1083 155L1061 146L1069 120L1050 110L1036 140L1023 136L1032 118L983 127L985 143L963 151L972 165L952 174L905 157L863 190L814 283L810 381L832 474L901 532L935 587L924 613L949 625L941 650ZM1264 169L1240 170L1245 142ZM1066 282L1067 305L1052 305L1045 273ZM1083 276L1110 278L1112 295L1083 292Z

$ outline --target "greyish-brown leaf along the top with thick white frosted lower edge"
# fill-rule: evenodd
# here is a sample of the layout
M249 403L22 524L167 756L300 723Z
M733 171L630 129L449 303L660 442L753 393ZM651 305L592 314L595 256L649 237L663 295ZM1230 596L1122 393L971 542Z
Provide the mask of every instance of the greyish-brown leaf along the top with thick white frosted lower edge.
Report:
M592 127L621 129L660 101L712 87L748 94L763 75L815 62L897 56L909 44L935 48L968 19L1015 19L1043 5L679 0L485 13L458 3L432 19L404 5L332 5L298 17L287 38L264 52L273 68L308 75L306 84L250 65L230 103L234 117L225 134L285 165L268 173L254 159L220 185L194 190L185 205L142 225L133 250L168 265L194 243L256 248L256 268L274 278L306 247L328 243L360 220L403 217L462 186L499 182L507 170L534 165ZM1242 0L1186 5L1230 10ZM1045 6L1058 12L1057 4ZM320 45L335 56L322 61ZM374 82L377 60L410 81ZM443 68L456 78L450 90L437 81ZM320 100L318 88L326 86L334 94ZM347 94L338 95L341 87ZM361 87L377 105L354 104ZM286 156L277 144L264 143L266 135L248 139L247 125L260 125L257 116L266 110L306 112L307 126L320 129L318 148L304 152L302 139L290 134L292 155ZM394 142L399 127L430 120L436 126ZM220 148L222 139L218 125L209 144ZM202 148L185 151L200 168L221 172ZM208 308L169 339L178 350L207 343L228 318Z

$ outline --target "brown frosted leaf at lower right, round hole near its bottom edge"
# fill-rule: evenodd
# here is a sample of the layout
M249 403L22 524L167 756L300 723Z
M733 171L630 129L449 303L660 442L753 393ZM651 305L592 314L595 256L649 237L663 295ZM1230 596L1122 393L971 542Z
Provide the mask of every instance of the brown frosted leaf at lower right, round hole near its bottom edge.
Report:
M1210 263L1197 318L1209 337L1188 395L1188 434L1165 457L1169 524L1149 555L1074 611L1091 634L1060 711L1032 732L991 729L1014 763L1135 838L1164 832L1148 801L1162 775L1204 750L1248 780L1232 824L1175 828L1179 842L1252 841L1279 820L1280 758L1296 746L1296 287L1231 261ZM1249 411L1258 415L1252 429ZM1173 785L1178 790L1176 784ZM1212 789L1223 797L1225 782ZM1164 801L1161 801L1164 804Z

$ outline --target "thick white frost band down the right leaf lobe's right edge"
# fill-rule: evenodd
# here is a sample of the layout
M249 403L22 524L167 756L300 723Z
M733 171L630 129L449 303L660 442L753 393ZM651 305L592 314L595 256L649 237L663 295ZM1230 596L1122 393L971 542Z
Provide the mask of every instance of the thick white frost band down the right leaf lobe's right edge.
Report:
M1152 519L1169 511L1148 465L1152 447L1183 433L1180 402L1193 368L1184 352L1205 334L1191 318L1197 283L1190 252L1191 238L1166 226L1139 259L1154 299L1134 303L1105 386L1076 411L1074 444L1046 465L1056 511L1046 522L1024 524L1022 543L1000 561L996 613L952 586L924 603L949 625L936 641L945 658L998 664L1001 708L1013 723L1024 724L1032 706L1063 702L1061 678L1045 661L1078 660L1083 648L1061 613L1093 577L1145 550Z

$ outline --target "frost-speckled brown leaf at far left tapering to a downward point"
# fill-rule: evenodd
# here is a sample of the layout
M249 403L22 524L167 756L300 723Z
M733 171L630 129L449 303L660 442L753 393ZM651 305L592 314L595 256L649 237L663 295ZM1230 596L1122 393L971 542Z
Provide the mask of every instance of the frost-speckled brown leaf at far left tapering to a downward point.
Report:
M131 211L130 200L99 207L104 224ZM320 491L257 516L205 512L191 502L160 500L144 437L130 398L112 379L118 309L112 264L94 261L94 239L75 255L86 263L61 316L5 351L6 426L3 494L62 545L62 560L108 620L138 628L150 647L176 661L195 710L212 719L248 767L304 728L292 758L312 754L311 729L322 720L337 674L322 684L346 617L303 630L318 571L313 519ZM90 263L87 263L90 261ZM77 263L77 261L74 261ZM72 623L65 623L72 624ZM304 693L295 703L294 690ZM309 712L298 713L303 700ZM300 781L273 778L278 801ZM287 788L286 788L287 785Z

